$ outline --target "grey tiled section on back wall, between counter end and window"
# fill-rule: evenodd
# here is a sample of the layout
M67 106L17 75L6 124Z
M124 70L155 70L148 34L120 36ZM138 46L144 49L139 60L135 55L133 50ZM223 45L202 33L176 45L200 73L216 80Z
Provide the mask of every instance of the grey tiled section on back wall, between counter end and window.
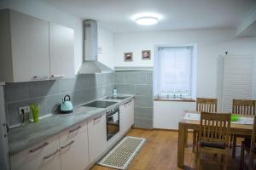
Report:
M153 71L116 71L119 94L135 94L135 127L153 128Z

